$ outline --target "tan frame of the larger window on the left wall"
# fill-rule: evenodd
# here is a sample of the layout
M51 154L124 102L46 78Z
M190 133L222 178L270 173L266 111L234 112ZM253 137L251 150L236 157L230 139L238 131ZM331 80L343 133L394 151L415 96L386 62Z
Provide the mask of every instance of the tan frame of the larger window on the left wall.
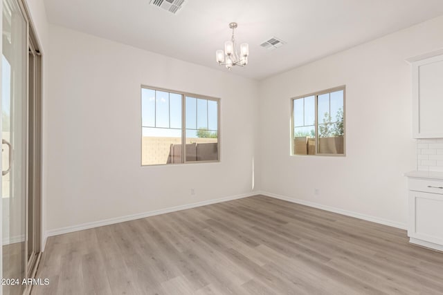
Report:
M143 89L153 90L153 91L163 91L167 93L174 93L181 95L181 163L165 163L165 164L143 164L143 99L142 92ZM217 102L217 160L206 160L206 161L186 161L186 97L193 97L196 99L206 99L213 102ZM221 126L220 126L220 110L221 110L221 99L219 97L210 97L206 95L199 95L195 93L188 93L184 91L175 91L167 88L159 88L153 86L147 86L141 84L140 88L140 164L142 167L146 166L177 166L182 164L208 164L208 163L219 163L221 162L221 152L220 152L220 137L221 137ZM156 118L155 118L156 119ZM170 119L169 119L170 120Z

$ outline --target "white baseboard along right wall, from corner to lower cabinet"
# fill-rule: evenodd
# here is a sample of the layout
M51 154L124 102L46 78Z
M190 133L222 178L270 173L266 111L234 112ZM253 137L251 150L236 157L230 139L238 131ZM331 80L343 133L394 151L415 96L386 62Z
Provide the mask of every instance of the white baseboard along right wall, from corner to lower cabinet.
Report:
M317 203L309 202L306 200L299 200L296 198L289 198L287 196L276 195L275 193L269 193L267 191L257 191L256 194L260 194L263 196L267 196L267 197L271 197L271 198L275 198L275 199L280 199L280 200L284 200L284 201L288 201L288 202L293 202L296 204L302 204L305 206L314 207L314 208L322 209L325 211L331 211L331 212L339 213L339 214L342 214L345 216L350 216L350 217L359 218L359 219L363 219L363 220L367 220L367 221L371 221L371 222L376 222L381 225L388 225L390 227L397 227L398 229L407 229L408 228L408 225L401 223L401 222L395 222L392 220L369 216L369 215L365 215L365 214L361 214L361 213L357 213L357 212L353 212L353 211L347 211L347 210L338 209L335 207L329 207L329 206L326 206L323 204L317 204Z

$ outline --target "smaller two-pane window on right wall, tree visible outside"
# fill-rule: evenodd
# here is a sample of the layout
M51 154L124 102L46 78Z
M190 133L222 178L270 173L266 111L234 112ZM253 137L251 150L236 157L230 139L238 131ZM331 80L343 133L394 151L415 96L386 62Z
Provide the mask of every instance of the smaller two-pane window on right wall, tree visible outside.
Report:
M291 154L345 155L345 86L291 99Z

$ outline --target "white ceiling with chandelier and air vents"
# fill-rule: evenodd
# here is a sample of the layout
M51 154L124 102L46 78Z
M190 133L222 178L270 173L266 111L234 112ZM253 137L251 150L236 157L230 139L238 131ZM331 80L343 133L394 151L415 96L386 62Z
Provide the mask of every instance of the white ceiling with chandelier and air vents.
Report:
M235 75L263 79L443 15L442 0L186 0L177 15L150 0L45 0L51 23L219 70L215 50L249 44ZM271 37L287 44L260 47Z

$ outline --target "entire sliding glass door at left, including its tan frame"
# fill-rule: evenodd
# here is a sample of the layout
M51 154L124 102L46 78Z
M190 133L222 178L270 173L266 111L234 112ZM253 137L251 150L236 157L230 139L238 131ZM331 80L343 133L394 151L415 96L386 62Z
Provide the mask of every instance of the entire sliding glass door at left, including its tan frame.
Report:
M3 1L3 295L23 294L40 254L41 56L20 0ZM12 281L14 280L14 281Z

